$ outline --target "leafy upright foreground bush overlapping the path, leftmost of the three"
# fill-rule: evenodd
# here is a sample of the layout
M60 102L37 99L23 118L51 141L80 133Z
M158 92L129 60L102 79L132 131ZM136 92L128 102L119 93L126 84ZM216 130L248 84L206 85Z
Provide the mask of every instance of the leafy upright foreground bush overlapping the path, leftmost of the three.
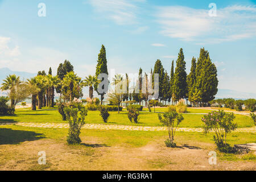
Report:
M85 116L87 115L88 110L85 107L78 105L75 106L66 106L64 107L64 113L68 119L69 130L67 142L68 144L80 144L81 139L79 137L81 133L81 127L85 124Z

